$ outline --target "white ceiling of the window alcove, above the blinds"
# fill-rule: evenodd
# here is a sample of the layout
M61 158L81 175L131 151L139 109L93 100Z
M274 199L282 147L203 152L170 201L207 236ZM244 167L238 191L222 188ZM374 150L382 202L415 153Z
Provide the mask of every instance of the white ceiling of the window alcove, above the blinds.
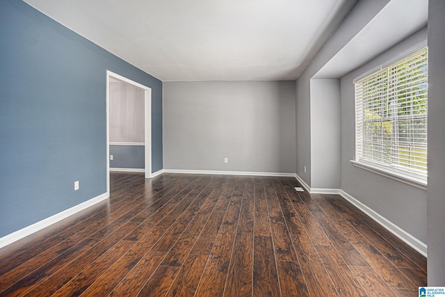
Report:
M314 78L343 77L419 31L427 22L427 0L391 0Z

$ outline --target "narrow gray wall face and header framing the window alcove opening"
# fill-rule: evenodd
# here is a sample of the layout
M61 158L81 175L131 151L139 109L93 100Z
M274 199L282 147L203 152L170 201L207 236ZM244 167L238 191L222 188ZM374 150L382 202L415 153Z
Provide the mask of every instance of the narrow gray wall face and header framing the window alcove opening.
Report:
M296 172L306 184L312 186L311 164L311 111L310 111L310 80L337 52L344 47L373 17L389 2L389 0L357 1L356 5L345 17L337 30L325 42L314 59L307 65L296 81ZM304 172L307 166L307 172Z

